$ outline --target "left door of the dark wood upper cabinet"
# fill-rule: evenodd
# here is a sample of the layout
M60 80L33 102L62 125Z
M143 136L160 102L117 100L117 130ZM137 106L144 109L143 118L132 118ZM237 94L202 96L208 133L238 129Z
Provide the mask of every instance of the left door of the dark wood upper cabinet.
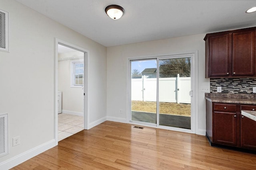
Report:
M209 76L229 75L229 34L209 37Z

